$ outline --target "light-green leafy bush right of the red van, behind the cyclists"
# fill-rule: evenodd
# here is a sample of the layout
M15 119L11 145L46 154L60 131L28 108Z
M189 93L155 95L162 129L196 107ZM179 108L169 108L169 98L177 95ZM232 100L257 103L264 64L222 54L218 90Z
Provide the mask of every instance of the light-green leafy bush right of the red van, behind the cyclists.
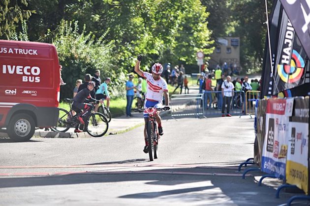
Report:
M95 39L91 32L85 31L85 27L80 32L77 22L62 21L53 44L62 65L62 79L66 82L61 87L62 98L72 96L76 79L84 79L87 73L93 75L97 69L102 77L112 77L115 88L125 77L111 64L113 41L105 41L104 36Z

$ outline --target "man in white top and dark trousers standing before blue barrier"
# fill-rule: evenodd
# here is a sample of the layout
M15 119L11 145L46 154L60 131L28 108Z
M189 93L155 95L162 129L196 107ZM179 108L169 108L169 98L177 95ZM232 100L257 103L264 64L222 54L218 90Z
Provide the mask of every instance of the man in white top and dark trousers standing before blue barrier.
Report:
M222 97L223 97L223 103L222 103L222 117L224 117L224 112L225 112L225 106L227 103L227 117L231 117L229 114L229 109L230 109L230 102L232 97L234 96L234 85L232 82L230 82L231 77L227 76L226 80L223 81L222 83Z

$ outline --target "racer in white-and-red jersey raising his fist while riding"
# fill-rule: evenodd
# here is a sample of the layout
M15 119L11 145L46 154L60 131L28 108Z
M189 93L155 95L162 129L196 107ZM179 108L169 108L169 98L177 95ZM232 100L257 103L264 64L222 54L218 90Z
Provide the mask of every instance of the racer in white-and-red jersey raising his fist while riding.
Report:
M168 95L168 86L167 82L164 78L160 77L163 68L162 65L159 63L155 63L152 66L152 74L148 72L143 72L140 69L140 62L142 60L142 55L138 56L138 61L136 62L136 65L134 66L134 71L140 75L141 77L144 77L147 80L148 87L147 87L147 93L146 93L146 100L144 102L144 108L149 107L155 107L159 108L162 106L162 96L165 97L165 107L167 110L170 109L169 106L169 95ZM144 139L145 139L145 147L143 149L144 153L148 153L148 140L147 140L147 123L148 123L148 114L145 112L143 114L145 125L144 125ZM163 129L161 125L161 118L159 116L159 111L154 115L156 118L156 122L158 125L158 134L161 136L163 135Z

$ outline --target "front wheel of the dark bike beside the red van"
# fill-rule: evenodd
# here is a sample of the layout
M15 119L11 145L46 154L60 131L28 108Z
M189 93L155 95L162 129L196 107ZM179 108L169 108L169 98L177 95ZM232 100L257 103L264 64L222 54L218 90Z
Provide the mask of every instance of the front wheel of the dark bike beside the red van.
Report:
M107 118L101 113L92 113L87 121L87 133L93 137L102 137L109 129Z

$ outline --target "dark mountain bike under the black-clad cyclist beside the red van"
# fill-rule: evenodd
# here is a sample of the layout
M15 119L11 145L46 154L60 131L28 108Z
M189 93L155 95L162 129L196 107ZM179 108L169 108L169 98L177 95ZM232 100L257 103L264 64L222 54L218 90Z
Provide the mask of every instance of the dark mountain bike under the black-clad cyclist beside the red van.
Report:
M63 108L59 108L59 118L57 122L57 126L51 128L56 132L66 132L70 128L75 128L80 125L80 121L78 120L78 116L81 115L81 112L76 112L73 114L71 103L72 99L65 99L64 102L69 103L70 111L67 111ZM109 123L107 118L98 112L93 112L89 115L89 117L84 120L87 133L89 133L93 137L101 137L103 136L109 128Z

